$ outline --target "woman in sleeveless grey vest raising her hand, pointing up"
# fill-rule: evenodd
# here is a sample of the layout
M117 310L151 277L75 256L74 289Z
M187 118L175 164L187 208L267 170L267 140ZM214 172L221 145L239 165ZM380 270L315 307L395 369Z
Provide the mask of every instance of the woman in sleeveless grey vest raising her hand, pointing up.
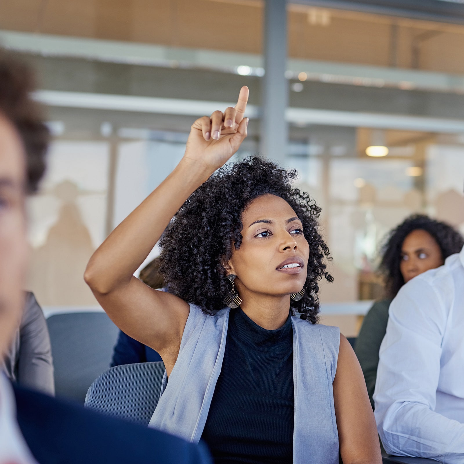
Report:
M292 188L295 171L256 157L223 168L247 135L247 101L243 87L235 108L194 122L178 166L85 280L120 329L161 354L150 426L203 439L216 463L380 464L354 352L316 323L318 283L332 280L320 208ZM169 293L132 276L160 238Z

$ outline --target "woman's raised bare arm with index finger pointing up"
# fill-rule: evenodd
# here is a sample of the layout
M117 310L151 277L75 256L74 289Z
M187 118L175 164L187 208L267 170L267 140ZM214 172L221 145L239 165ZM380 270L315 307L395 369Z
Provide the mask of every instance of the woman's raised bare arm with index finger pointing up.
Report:
M113 322L174 366L189 306L177 296L149 288L133 273L155 246L191 193L224 165L246 137L248 88L235 108L194 122L178 166L90 258L84 279ZM171 368L172 368L171 366Z

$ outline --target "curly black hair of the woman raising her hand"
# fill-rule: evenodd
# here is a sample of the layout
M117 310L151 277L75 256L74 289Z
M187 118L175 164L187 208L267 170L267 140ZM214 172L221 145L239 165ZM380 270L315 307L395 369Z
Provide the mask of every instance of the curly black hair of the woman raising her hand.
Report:
M291 301L292 314L312 324L318 320L318 281L325 276L327 245L319 233L321 208L308 193L292 188L296 170L286 171L258 156L219 169L195 192L174 216L161 241L160 272L169 292L200 306L213 315L226 306L224 298L231 292L223 264L232 256L232 247L242 242L241 215L251 200L271 193L283 198L303 223L309 243L308 276L305 294Z

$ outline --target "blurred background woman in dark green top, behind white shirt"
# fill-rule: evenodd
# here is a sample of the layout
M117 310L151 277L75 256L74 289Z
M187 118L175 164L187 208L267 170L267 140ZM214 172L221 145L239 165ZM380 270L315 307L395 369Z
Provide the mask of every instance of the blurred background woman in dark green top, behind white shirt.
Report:
M387 331L390 303L406 282L441 266L448 256L459 253L463 245L463 237L453 227L422 214L410 216L388 234L379 269L385 277L386 298L375 302L369 310L354 346L372 407L379 349Z

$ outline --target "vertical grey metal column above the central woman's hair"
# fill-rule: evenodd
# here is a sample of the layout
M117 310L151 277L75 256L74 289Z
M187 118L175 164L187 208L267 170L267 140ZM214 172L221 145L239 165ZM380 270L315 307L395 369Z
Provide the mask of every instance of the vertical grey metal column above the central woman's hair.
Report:
M288 128L285 110L288 106L287 11L286 0L264 2L264 69L261 153L285 165Z

